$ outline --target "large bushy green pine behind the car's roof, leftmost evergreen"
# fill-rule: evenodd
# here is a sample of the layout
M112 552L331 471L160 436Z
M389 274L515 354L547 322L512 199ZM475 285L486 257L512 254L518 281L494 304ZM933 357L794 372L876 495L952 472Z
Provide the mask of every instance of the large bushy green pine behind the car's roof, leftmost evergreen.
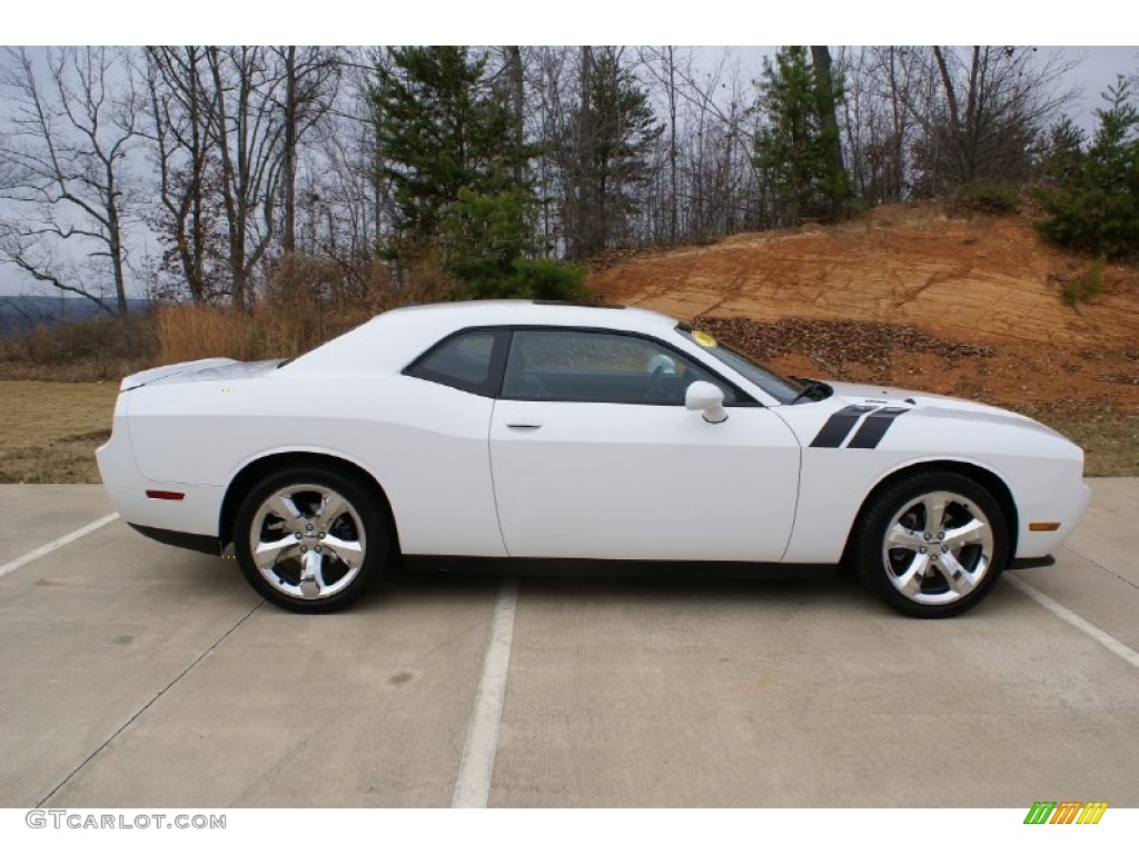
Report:
M517 74L492 85L485 58L465 47L391 49L388 60L372 91L380 176L396 208L385 254L441 252L462 296L584 296L583 270L530 258L536 149L521 133Z

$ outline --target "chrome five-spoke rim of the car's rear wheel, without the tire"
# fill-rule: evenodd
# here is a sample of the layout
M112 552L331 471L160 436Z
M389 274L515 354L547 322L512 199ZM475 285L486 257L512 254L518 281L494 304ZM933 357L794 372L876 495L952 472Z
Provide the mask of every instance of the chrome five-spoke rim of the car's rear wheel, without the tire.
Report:
M290 484L257 507L249 552L273 590L295 599L327 599L360 574L367 556L364 524L335 490Z

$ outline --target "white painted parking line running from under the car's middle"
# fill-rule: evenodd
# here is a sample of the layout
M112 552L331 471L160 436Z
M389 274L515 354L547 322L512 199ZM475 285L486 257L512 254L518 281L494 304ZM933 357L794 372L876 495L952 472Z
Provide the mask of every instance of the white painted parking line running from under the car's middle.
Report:
M484 807L490 799L499 723L506 699L506 678L510 668L514 613L517 607L518 582L507 578L494 601L491 637L483 659L483 675L475 693L475 708L467 725L467 741L462 746L459 775L451 796L452 807Z

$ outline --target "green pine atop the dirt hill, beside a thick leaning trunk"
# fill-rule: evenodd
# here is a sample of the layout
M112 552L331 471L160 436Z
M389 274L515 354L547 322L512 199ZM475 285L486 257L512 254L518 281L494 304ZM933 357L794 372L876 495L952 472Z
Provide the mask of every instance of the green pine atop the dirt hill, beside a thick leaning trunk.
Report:
M768 123L755 137L755 166L775 205L775 220L834 219L847 195L838 150L838 126L828 121L842 104L841 81L820 85L803 47L763 60L760 106Z

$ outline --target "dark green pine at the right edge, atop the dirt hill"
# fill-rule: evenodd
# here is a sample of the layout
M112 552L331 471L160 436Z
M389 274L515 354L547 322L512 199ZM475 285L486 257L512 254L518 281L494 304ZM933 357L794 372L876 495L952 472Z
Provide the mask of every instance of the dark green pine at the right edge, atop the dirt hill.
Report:
M1049 240L1107 258L1139 253L1139 109L1122 77L1104 96L1099 126L1084 150L1076 129L1058 125L1043 163L1052 186L1036 191Z

